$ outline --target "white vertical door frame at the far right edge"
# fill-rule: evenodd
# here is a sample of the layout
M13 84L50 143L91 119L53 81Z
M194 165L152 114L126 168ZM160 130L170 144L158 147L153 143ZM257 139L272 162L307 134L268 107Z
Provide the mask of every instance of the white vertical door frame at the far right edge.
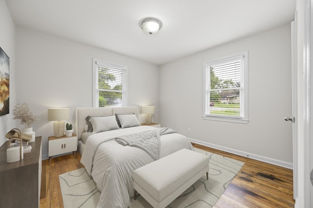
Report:
M313 0L296 0L297 189L296 208L313 207Z

